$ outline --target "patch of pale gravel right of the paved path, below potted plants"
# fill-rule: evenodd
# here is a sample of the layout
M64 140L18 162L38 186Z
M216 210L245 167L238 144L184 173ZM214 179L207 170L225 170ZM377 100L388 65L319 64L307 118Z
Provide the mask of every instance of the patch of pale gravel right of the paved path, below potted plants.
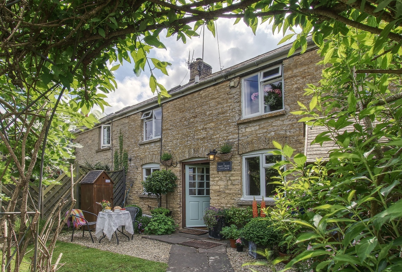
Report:
M271 269L271 265L268 263L267 260L255 260L251 256L248 255L248 250L244 248L243 252L237 252L236 248L231 248L230 245L228 245L228 248L226 249L226 253L228 254L230 264L232 264L233 270L235 272L244 272L244 271L250 271L248 268L252 268L258 272L274 272L275 270ZM265 266L242 266L242 264L249 263L249 262L263 262L265 263ZM285 265L282 263L276 264L275 268L277 271L281 271L283 268L285 268ZM287 271L290 272L295 272L296 270L294 269L289 269Z

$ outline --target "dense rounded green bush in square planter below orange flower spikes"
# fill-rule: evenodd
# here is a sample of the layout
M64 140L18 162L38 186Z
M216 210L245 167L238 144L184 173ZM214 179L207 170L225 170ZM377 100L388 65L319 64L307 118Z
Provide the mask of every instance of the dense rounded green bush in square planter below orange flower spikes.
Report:
M274 248L283 240L283 233L268 218L255 217L244 226L244 238L259 246Z

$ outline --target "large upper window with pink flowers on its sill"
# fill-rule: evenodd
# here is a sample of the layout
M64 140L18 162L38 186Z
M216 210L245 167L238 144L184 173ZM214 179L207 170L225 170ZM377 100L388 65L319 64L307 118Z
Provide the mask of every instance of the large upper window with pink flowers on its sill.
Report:
M252 117L283 109L282 65L242 79L243 117Z

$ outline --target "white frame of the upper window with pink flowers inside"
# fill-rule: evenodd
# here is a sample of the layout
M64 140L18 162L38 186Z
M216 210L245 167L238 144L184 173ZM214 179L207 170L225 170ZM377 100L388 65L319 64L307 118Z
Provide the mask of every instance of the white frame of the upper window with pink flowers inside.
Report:
M279 72L277 74L271 75L271 76L266 77L266 78L263 79L263 73L264 72L271 71L273 69L277 69L278 67L279 67ZM245 80L250 78L250 77L252 77L252 76L254 76L254 75L258 75L258 102L259 102L259 104L258 104L258 112L246 115L246 102L245 102L246 101L246 90L245 90L246 84L245 84ZM285 83L283 81L282 64L269 67L268 69L264 69L263 71L260 71L258 73L254 73L254 74L250 74L250 75L247 75L246 77L242 78L242 118L250 118L250 117L254 117L254 116L260 116L260 115L263 115L263 114L271 113L271 112L264 112L264 106L265 105L264 105L264 99L262 98L262 97L264 97L263 96L264 91L263 91L262 87L265 84L269 84L269 83L279 81L278 80L279 78L282 80L282 105L283 105L283 108L279 109L279 110L271 111L271 112L278 112L278 111L283 110L285 108L285 99L284 99L284 97L285 97L285 95L284 95L284 93L285 93L285 90L284 90Z

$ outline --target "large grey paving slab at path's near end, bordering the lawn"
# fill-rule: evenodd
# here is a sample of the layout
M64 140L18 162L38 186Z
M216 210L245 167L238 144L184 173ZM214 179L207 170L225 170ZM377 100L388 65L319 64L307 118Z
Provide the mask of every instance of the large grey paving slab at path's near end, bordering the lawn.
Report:
M174 267L209 268L207 253L186 253L170 251L169 269Z

